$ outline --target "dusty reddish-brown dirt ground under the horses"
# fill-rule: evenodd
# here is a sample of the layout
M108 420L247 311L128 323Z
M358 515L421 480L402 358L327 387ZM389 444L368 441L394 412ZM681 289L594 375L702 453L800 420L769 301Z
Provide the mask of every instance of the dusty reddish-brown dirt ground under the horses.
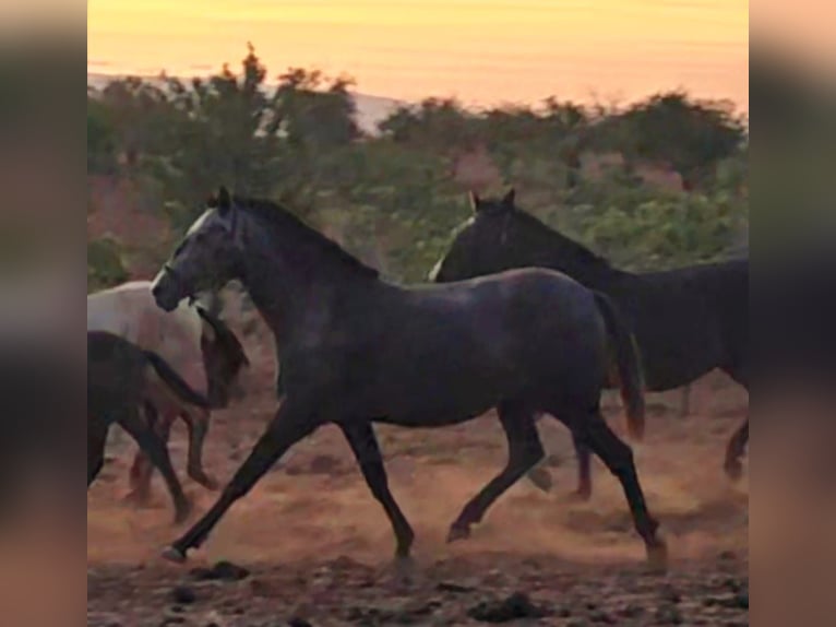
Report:
M250 347L256 364L270 359ZM275 410L272 366L254 368L250 389L243 402L213 417L206 468L222 480ZM571 441L548 418L540 433L551 454L551 492L521 481L471 539L451 545L444 542L449 524L504 464L495 418L434 430L379 428L393 493L417 534L408 581L389 568L389 522L335 428L296 447L183 566L158 557L182 532L171 523L158 477L150 508L121 500L134 448L120 438L87 496L87 624L748 625L749 483L733 485L721 471L747 397L712 375L694 387L692 415L683 418L678 394L648 395L646 439L634 445L648 505L669 545L666 575L645 567L620 486L597 460L592 500L573 500ZM610 424L623 434L608 397L609 405ZM193 522L215 495L184 478L181 426L171 450L195 501ZM244 567L247 576L210 577L206 567L218 560Z

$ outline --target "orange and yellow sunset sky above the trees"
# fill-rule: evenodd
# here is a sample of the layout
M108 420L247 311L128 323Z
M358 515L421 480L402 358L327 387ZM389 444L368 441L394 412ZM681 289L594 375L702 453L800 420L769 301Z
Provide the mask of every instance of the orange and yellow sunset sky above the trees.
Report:
M203 74L251 40L367 94L468 104L632 100L685 87L749 108L748 0L89 0L88 70Z

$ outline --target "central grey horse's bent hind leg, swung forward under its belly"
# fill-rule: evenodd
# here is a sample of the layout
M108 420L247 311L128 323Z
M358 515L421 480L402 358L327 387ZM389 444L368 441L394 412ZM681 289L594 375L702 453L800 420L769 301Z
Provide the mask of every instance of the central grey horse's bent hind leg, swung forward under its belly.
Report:
M467 501L458 518L450 525L447 542L468 537L470 525L481 522L491 504L545 456L533 411L516 403L503 403L499 407L499 419L507 437L507 464Z

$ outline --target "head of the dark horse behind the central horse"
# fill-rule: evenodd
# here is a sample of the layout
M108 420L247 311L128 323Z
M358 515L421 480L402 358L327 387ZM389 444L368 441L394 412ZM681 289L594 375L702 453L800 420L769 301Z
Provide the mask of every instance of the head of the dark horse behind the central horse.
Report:
M430 272L430 281L462 281L505 270L502 259L506 251L501 249L515 241L514 189L501 199L481 199L474 192L469 199L474 215L457 228L453 244Z

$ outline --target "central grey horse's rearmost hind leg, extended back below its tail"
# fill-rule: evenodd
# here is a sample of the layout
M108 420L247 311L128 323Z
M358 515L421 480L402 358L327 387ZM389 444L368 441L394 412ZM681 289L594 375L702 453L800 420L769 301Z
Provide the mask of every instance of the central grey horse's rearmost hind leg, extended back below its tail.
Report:
M647 558L655 566L664 567L667 560L667 548L656 535L659 523L647 510L638 473L633 463L633 451L612 433L597 409L586 416L578 416L577 421L570 424L578 437L589 445L593 452L621 482L635 529L644 540Z

